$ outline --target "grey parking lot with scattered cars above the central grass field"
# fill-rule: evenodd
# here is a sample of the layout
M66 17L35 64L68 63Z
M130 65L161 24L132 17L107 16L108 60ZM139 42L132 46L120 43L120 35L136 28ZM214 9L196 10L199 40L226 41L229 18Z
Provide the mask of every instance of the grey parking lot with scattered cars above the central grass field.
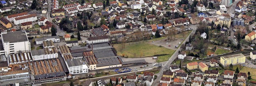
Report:
M174 50L176 50L177 49L177 47L175 47L175 46L177 46L177 45L180 45L181 43L182 43L182 39L174 39L174 38L170 38L170 39L168 39L168 42L166 42L167 41L167 39L162 39L162 40L158 40L158 41L154 41L154 42L152 42L152 44L154 44L154 45L156 45L156 46L162 46L162 47L166 47L166 48L168 48L168 49L174 49Z

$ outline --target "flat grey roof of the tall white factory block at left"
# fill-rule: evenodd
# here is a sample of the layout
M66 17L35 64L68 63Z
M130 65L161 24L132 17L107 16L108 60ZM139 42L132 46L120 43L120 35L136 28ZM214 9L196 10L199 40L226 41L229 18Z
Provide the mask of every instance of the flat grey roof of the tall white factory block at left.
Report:
M2 34L3 42L9 41L10 43L28 41L25 31L14 31Z

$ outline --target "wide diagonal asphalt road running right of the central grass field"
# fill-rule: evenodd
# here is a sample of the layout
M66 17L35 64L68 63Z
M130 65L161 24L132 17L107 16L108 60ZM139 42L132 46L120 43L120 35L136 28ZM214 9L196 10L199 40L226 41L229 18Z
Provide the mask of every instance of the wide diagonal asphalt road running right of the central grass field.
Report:
M194 33L196 32L196 25L193 26L188 26L190 28L193 29L193 31L190 33L190 35L194 35ZM190 35L188 35L188 37L184 40L183 44L185 44L185 41L188 41L188 38L190 37ZM169 69L170 64L172 63L172 61L174 61L174 59L176 59L178 57L178 52L180 51L180 47L174 52L174 54L172 55L172 57L170 57L170 59L167 61L167 63L161 68L160 72L158 74L156 74L158 77L156 78L156 80L153 82L152 86L157 86L158 82L161 79L161 76L163 75L163 72L166 71L167 69Z

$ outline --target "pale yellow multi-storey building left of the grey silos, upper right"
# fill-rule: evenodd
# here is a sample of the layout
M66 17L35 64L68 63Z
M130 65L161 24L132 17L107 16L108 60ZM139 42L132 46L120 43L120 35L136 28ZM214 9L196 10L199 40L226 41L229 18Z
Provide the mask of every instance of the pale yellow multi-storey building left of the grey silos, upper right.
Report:
M227 25L228 27L230 27L231 25L231 18L226 18L226 17L219 17L217 18L217 20L214 22L215 26L217 26L218 24L220 24L220 26Z

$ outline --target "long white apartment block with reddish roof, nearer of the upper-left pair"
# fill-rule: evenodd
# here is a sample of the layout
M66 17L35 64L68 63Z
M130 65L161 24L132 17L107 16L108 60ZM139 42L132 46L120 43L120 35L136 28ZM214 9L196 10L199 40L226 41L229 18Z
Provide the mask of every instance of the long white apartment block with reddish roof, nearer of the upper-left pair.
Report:
M36 14L31 14L31 15L28 15L28 16L22 16L22 17L19 17L19 18L14 18L14 24L19 25L20 23L35 22L36 20L37 20Z

